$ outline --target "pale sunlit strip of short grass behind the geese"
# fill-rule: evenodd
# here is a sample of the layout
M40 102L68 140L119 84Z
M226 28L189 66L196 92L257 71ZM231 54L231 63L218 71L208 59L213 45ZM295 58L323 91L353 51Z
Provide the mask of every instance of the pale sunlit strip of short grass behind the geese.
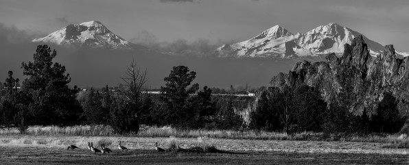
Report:
M288 153L379 153L407 155L407 148L384 148L389 144L368 142L325 142L325 141L290 141L290 140L232 140L209 137L85 137L85 136L34 136L34 135L3 135L0 136L0 148L5 147L45 147L67 150L73 144L80 149L87 150L88 142L95 147L104 143L108 148L118 150L117 145L132 150L154 150L155 143L167 149L172 146L178 148L206 148L214 146L220 151L237 152L265 152L281 151Z

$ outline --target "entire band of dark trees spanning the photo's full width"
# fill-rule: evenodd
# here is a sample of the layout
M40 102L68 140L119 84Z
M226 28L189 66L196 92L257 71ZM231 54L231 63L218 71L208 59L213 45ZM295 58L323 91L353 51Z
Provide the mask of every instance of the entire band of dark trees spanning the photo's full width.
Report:
M307 85L262 87L255 98L211 96L212 89L193 83L196 72L173 67L164 78L160 95L145 94L146 69L132 61L122 78L124 88L115 94L108 85L100 90L70 88L71 77L60 63L53 63L56 51L39 45L34 61L22 63L23 82L8 72L1 84L0 126L16 126L23 133L30 125L110 125L117 133L138 133L139 126L171 125L178 129L256 129L264 131L345 133L395 133L406 116L397 101L385 93L377 112L356 115L348 111L353 100L351 86L344 86L338 98L328 104L320 91ZM345 83L347 84L347 83ZM21 86L21 89L18 87ZM246 87L247 89L247 87ZM215 90L213 88L213 90ZM233 92L233 86L230 91ZM220 92L220 91L218 91ZM248 122L240 107L252 105ZM250 106L251 107L251 106Z

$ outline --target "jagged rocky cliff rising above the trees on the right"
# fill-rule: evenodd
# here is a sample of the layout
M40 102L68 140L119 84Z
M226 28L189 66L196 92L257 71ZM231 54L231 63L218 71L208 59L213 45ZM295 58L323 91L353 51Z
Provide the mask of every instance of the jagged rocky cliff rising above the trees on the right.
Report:
M353 98L349 111L356 115L364 109L374 114L385 92L393 94L401 114L409 114L409 58L397 58L393 45L386 45L383 54L371 56L362 36L344 45L338 57L328 54L326 61L296 63L288 73L280 73L270 81L271 87L309 85L320 90L327 103L340 99L347 91ZM256 98L257 100L257 98Z

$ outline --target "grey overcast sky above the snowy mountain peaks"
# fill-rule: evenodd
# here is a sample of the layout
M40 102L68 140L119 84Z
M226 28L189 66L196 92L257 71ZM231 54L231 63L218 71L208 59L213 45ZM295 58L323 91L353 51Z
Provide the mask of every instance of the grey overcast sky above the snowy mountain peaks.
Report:
M273 25L305 33L335 22L409 52L407 0L0 0L0 23L49 34L69 23L101 21L128 41L244 41Z

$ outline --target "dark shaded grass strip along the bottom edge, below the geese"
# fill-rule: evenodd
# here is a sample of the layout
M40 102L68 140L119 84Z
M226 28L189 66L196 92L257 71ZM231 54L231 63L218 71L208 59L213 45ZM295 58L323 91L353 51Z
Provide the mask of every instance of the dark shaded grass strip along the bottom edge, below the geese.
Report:
M84 151L56 148L0 148L3 164L407 164L406 155L237 153L187 154L155 153L148 150L93 155Z

